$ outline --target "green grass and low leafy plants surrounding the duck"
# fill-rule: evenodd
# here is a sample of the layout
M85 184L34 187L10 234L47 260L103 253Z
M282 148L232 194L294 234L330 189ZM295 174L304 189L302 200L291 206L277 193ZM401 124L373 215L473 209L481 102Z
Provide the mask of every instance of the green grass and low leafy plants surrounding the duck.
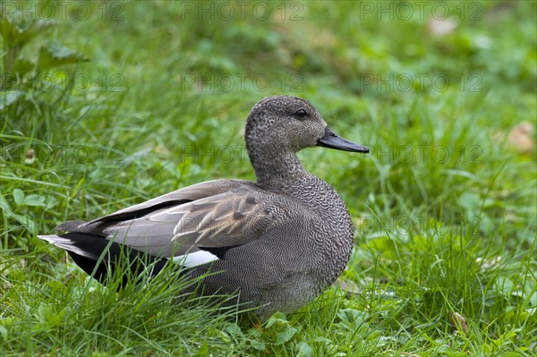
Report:
M60 6L32 4L38 18ZM232 4L226 20L223 4L94 3L86 16L72 2L21 49L37 63L22 83L5 81L3 30L1 354L533 355L535 133L520 125L537 113L535 2L442 3L445 35L428 2L423 16L405 3L408 19L399 3L315 1L251 2L244 19ZM38 61L53 41L76 55ZM255 329L236 309L177 302L173 271L116 292L37 239L192 183L253 180L243 124L277 93L372 149L300 154L354 217L343 288Z

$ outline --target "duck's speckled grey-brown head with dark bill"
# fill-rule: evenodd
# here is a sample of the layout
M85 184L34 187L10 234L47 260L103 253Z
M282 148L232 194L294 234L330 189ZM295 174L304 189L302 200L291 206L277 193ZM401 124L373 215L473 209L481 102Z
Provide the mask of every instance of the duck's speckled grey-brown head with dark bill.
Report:
M369 152L367 147L332 132L310 102L289 96L272 96L256 103L248 116L244 140L250 154L263 151L268 157L278 153L296 153L314 146Z

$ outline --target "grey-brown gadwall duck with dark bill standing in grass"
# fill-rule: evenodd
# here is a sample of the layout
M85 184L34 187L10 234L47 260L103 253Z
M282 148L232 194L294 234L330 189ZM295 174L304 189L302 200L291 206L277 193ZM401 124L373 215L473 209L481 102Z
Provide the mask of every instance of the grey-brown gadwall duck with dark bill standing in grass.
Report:
M253 106L244 140L255 183L197 183L90 222L65 222L56 230L67 233L39 237L101 282L122 254L154 263L152 275L173 259L187 276L217 272L203 278L204 294L239 293L260 317L292 312L334 283L354 242L344 201L296 153L314 146L369 149L337 136L308 101L287 96Z

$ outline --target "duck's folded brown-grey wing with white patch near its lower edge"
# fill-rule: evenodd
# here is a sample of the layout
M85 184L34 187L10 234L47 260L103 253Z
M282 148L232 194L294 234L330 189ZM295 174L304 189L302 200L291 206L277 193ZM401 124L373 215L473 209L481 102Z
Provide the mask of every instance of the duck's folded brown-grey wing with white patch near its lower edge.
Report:
M250 182L217 180L168 193L88 223L60 230L91 234L186 266L225 259L226 251L255 241L300 216L296 202ZM278 219L275 219L279 217Z

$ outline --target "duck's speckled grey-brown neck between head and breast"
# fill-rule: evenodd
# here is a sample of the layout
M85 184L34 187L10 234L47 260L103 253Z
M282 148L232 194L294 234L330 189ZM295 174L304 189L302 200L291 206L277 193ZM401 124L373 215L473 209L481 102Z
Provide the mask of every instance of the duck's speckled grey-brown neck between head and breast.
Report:
M250 161L261 187L288 185L309 174L294 152L257 150Z

